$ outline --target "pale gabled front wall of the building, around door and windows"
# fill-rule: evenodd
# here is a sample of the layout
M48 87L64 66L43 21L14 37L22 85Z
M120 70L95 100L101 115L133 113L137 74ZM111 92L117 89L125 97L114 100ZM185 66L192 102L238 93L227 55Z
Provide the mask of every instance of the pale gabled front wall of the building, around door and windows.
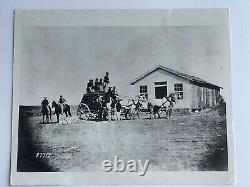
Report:
M162 100L161 99L155 99L155 85L154 82L163 82L167 81L167 95L170 93L174 92L174 84L182 83L183 84L183 99L178 100L176 105L174 106L175 108L190 108L191 107L191 86L190 82L186 79L183 79L179 76L176 76L174 74L168 73L164 70L156 70L152 72L151 74L147 75L135 85L133 85L133 92L134 96L140 95L140 86L146 85L148 88L148 98L157 103L161 104Z

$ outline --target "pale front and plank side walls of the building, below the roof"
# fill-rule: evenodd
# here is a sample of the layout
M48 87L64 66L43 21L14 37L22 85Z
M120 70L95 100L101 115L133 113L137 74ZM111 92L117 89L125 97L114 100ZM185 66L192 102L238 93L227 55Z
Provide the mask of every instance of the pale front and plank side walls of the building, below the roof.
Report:
M154 82L167 81L167 95L174 92L174 84L183 84L183 99L178 100L175 108L190 108L202 109L207 107L215 107L217 98L220 94L219 90L203 87L200 85L192 84L190 81L158 69L151 74L145 76L140 81L132 86L133 95L140 95L140 86L147 86L148 98L155 104L161 104L161 99L155 99L155 84Z

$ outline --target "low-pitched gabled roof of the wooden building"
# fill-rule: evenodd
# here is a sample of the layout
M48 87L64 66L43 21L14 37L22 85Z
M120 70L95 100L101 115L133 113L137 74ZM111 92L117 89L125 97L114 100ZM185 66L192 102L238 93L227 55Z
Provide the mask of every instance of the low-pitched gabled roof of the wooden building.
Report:
M202 79L200 79L199 77L195 77L195 76L191 76L191 75L187 75L187 74L184 74L184 73L181 73L181 72L178 72L178 71L175 71L173 69L170 69L170 68L167 68L165 66L162 66L162 65L158 65L158 66L155 66L152 70L150 71L147 71L146 73L142 74L141 76L137 77L135 80L133 80L130 85L134 85L136 82L140 81L141 79L143 79L144 77L146 77L147 75L153 73L154 71L158 70L158 69L161 69L161 70L164 70L164 71L167 71L169 73L172 73L174 75L177 75L179 77L182 77L184 79L187 79L193 83L198 83L198 84L203 84L203 85L207 85L207 86L211 86L211 87L216 87L216 88L222 88L220 86L217 86L215 84L212 84L212 83L209 83L207 81L204 81Z

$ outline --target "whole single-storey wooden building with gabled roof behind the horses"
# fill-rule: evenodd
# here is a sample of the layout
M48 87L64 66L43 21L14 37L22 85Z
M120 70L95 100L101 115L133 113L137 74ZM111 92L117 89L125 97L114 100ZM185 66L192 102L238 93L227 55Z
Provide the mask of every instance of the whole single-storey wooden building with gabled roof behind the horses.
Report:
M221 87L198 77L180 73L158 65L130 83L133 94L144 95L150 100L161 101L162 97L178 92L180 98L175 108L203 109L214 107Z

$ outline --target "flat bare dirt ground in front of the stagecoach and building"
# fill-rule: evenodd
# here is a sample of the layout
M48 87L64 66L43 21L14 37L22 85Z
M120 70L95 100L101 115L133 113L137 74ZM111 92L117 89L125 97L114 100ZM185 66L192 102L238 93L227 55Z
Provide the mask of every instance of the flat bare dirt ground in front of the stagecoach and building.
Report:
M41 118L20 120L18 171L101 171L114 156L150 160L148 171L227 170L226 118L216 111L110 123ZM37 152L52 156L36 158Z

